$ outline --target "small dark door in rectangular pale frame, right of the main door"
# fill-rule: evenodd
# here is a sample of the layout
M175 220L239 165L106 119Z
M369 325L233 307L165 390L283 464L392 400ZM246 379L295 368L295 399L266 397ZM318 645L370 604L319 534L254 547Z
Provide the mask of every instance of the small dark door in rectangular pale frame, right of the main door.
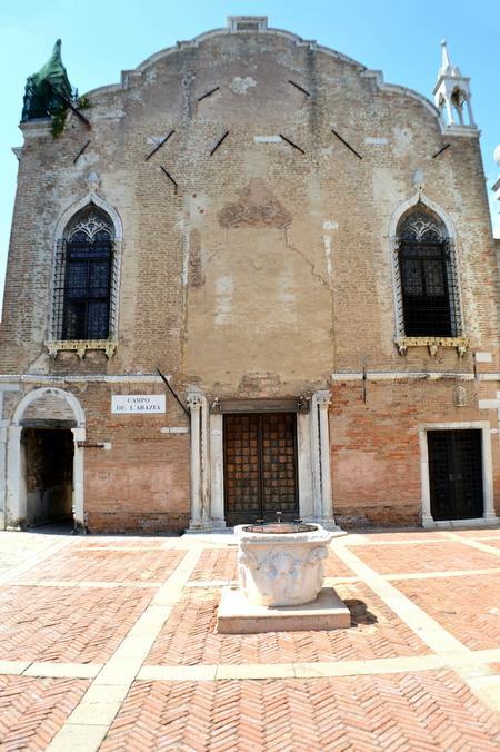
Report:
M429 431L427 437L432 517L482 517L481 432Z

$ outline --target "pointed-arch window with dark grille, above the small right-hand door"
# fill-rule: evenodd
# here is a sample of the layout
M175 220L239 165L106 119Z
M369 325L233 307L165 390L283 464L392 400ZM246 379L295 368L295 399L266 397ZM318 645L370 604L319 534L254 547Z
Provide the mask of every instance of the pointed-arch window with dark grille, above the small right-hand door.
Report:
M444 224L418 204L400 219L397 236L403 336L460 336L457 268Z

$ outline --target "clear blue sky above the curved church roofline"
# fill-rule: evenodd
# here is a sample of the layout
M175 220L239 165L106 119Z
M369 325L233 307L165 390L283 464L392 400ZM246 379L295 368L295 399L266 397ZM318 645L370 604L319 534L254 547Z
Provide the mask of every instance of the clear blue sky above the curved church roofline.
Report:
M316 39L369 68L386 81L432 97L440 66L440 40L471 77L474 117L492 218L500 236L500 206L491 185L500 168L499 0L1 0L0 66L0 294L16 192L18 130L26 78L41 68L56 39L80 93L117 82L120 71L180 39L226 26L227 16L260 14L269 26Z

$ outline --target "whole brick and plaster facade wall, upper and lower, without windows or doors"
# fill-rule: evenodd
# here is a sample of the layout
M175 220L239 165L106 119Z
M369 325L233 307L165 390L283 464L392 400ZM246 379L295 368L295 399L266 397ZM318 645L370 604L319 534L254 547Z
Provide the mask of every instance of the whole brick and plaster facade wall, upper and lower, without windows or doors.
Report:
M43 123L23 128L2 373L119 375L158 366L182 395L198 386L209 397L284 397L363 368L470 375L476 350L492 354L483 370L500 370L498 270L478 140L443 133L422 98L287 34L220 33L154 56L127 72L123 87L89 99L91 130L73 116L57 140ZM432 358L426 347L401 357L393 344L389 227L416 192L417 169L426 196L456 228L470 337L461 359L453 348ZM44 340L54 228L88 192L91 170L123 225L119 346L109 360L99 352L51 360ZM89 438L106 434L113 446L86 449L90 524L181 527L189 438L160 434L151 416L118 424L110 415L117 388L89 383L79 397ZM347 397L333 392L334 505L360 518L381 520L379 507L391 505L387 520L418 518L417 424L438 413L460 420L461 412L444 408L444 396L426 383L406 390L380 383L377 408L360 407L349 389ZM478 400L496 389L474 382L470 419L484 419ZM174 425L176 413L167 420Z

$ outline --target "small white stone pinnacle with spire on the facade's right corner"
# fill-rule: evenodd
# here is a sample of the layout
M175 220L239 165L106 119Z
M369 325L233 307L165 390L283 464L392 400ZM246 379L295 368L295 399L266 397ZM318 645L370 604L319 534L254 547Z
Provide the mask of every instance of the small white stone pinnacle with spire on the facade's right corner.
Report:
M470 103L470 78L462 76L460 68L453 66L444 39L441 42L441 68L434 87L434 103L448 128L476 128Z

